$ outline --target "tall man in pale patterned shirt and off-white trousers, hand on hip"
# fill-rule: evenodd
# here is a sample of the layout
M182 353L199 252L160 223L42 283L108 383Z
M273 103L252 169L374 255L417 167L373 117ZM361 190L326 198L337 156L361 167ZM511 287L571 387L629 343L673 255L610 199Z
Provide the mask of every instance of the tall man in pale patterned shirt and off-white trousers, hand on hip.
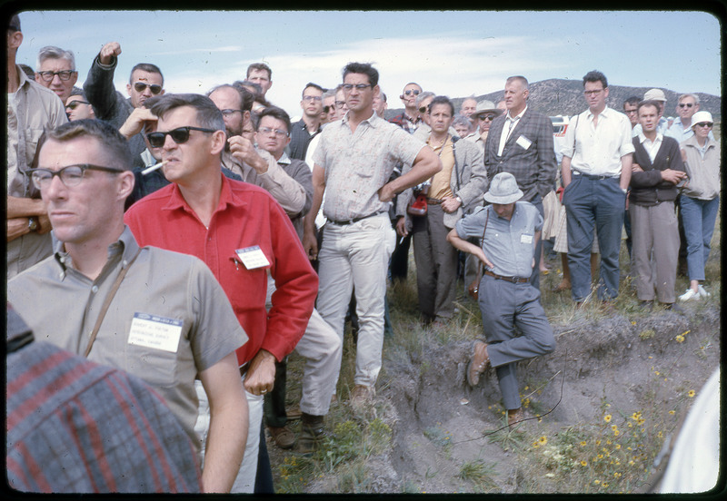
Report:
M355 289L360 329L351 405L357 410L373 398L381 369L386 270L396 239L388 215L390 201L397 192L442 170L431 148L373 113L378 80L371 64L344 67L348 112L321 133L314 153L313 207L304 221L304 249L310 259L319 260L318 312L342 338ZM412 168L387 182L399 163ZM319 254L314 219L324 191L328 222Z

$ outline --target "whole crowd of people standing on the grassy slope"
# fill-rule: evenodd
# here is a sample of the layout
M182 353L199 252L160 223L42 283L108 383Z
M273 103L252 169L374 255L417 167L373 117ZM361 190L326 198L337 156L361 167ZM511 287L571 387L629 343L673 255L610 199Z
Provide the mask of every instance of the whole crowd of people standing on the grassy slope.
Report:
M644 308L656 299L679 309L680 243L690 288L678 299L709 295L702 284L721 157L712 115L695 94L680 96L669 124L658 89L627 100L624 114L606 105L605 75L589 72L587 110L556 152L553 123L528 105L523 76L506 80L501 103L467 98L460 110L407 83L403 113L386 121L377 70L349 63L334 89L304 86L294 122L267 101L266 64L205 95L164 93L162 70L136 64L127 97L113 83L117 42L102 47L81 88L72 51L44 47L26 74L15 64L16 15L7 39L11 486L273 492L264 430L299 454L321 446L347 318L356 350L348 403L359 413L373 404L392 329L387 284L406 280L411 241L424 325L453 319L458 277L471 285L485 329L466 379L474 387L495 369L512 427L523 419L516 362L555 347L540 300L551 233L567 255L559 290L570 289L577 308L612 308L624 222ZM45 359L24 376L19 354L29 359L46 343L55 348L34 348ZM305 360L298 437L285 408L293 350ZM84 385L75 396L65 391L77 406L44 400L56 427L84 428L86 447L24 425L24 409L35 405L26 403L30 388L50 394L70 378L45 377L55 359L115 395L98 409ZM129 408L144 385L156 399ZM101 408L124 429L138 429L130 415L143 415L151 438L111 447ZM159 426L162 418L178 427ZM59 458L88 467L49 474L45 463ZM140 458L173 466L134 484Z

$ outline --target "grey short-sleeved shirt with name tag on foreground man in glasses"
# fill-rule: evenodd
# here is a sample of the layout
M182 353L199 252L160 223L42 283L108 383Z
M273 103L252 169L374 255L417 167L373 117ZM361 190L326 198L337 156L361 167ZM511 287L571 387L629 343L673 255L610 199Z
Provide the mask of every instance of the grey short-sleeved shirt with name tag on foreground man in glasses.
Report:
M58 242L53 256L7 283L7 298L37 339L83 354L109 290L137 251L134 236L124 228L109 245L101 274L91 280L75 270ZM144 379L199 447L194 378L247 337L201 260L149 247L130 266L88 359ZM150 329L164 332L163 347L149 339Z

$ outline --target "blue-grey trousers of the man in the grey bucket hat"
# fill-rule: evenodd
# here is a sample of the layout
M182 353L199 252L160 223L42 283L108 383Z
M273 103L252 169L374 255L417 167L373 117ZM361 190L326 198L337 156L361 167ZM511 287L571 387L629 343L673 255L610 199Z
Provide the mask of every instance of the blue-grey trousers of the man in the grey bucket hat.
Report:
M512 283L483 275L480 311L490 364L497 372L504 408L520 408L516 364L555 349L553 329L540 303L540 290L530 282ZM515 337L515 329L522 335Z

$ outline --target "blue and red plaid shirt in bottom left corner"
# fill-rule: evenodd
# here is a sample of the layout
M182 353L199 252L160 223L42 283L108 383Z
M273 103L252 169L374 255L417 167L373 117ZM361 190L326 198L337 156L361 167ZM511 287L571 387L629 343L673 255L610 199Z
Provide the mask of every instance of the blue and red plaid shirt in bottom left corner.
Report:
M19 334L27 336L15 311L7 313L8 342L14 317L25 329ZM201 492L192 441L140 378L43 341L8 353L6 367L6 474L12 488Z

